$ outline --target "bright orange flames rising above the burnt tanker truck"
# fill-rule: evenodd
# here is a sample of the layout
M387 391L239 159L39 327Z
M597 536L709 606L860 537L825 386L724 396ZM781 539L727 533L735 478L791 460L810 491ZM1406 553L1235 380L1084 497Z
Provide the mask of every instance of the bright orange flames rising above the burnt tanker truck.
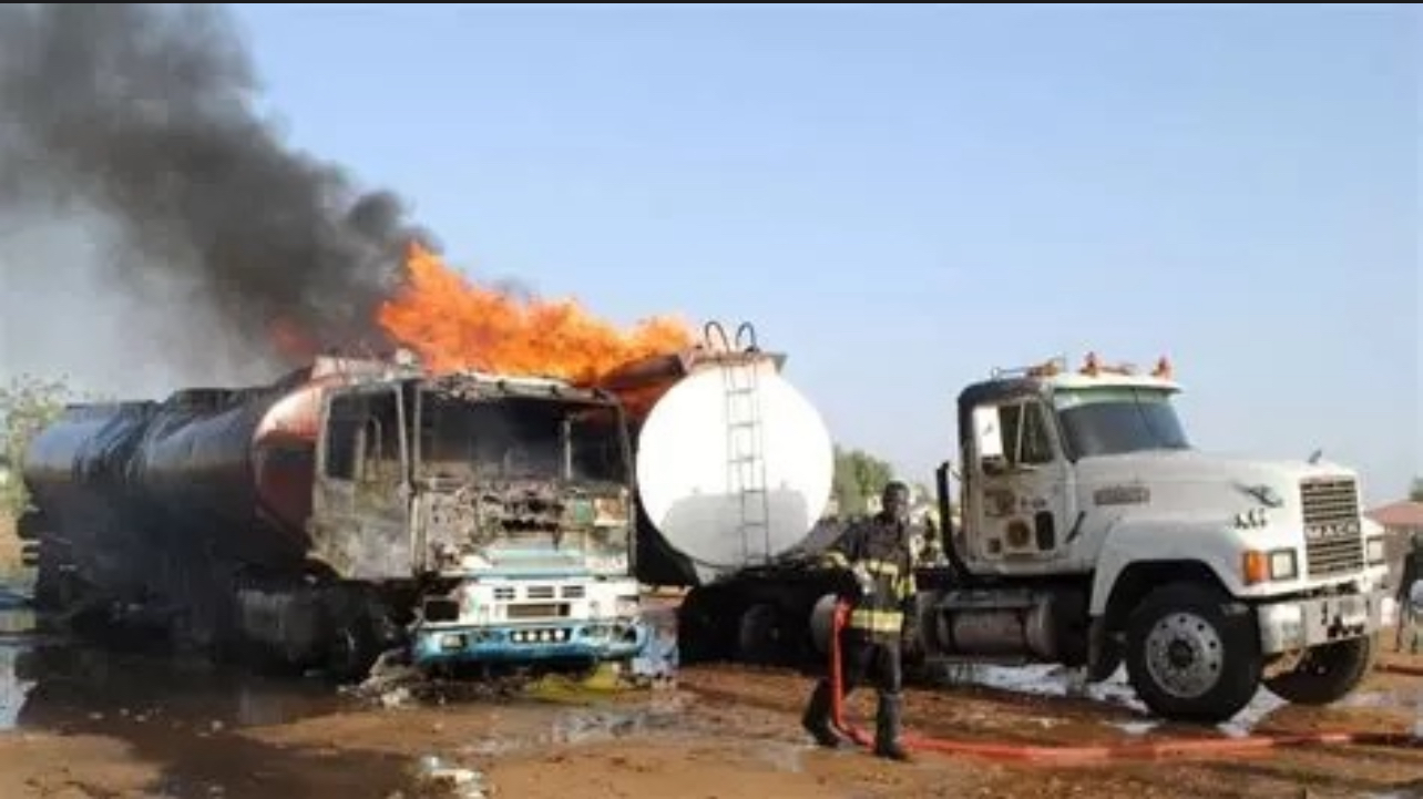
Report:
M411 245L404 289L381 304L381 327L434 372L480 370L592 384L629 361L692 344L689 326L655 317L632 331L593 318L572 300L519 303L471 284Z

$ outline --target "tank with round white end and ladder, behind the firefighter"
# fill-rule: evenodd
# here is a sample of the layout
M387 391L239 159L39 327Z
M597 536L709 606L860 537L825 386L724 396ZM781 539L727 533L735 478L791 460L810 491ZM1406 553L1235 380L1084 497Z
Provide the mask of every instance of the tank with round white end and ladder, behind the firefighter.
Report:
M706 584L776 560L820 522L834 448L784 361L754 345L693 347L599 381L632 424L640 581Z

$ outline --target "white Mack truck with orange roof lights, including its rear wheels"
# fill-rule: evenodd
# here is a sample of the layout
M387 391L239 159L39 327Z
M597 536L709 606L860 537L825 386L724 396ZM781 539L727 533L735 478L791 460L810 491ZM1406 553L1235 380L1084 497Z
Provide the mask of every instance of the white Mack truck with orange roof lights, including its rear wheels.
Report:
M1053 663L1090 681L1124 664L1154 714L1198 722L1261 685L1329 704L1363 680L1396 607L1358 475L1202 454L1178 391L1164 358L1141 374L1089 355L961 392L962 525L945 522L942 562L919 569L914 661ZM697 586L690 658L822 661L834 596L815 549L785 539L770 563Z

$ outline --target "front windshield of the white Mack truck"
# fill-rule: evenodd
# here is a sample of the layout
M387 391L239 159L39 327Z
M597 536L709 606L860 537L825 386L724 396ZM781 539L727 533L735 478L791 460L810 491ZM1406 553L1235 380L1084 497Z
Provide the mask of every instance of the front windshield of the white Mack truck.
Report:
M1191 446L1170 392L1160 388L1059 390L1053 404L1077 458Z

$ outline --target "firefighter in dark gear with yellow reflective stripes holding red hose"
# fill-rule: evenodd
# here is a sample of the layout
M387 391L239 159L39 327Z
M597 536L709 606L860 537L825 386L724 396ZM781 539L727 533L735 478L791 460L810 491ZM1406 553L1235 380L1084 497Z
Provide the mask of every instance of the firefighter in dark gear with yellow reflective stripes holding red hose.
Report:
M842 695L867 678L878 691L875 755L908 759L899 744L904 682L901 643L914 636L915 553L909 543L909 486L892 481L881 495L882 510L851 526L825 550L824 564L848 572L852 586L842 594L851 613L841 631ZM821 680L810 697L801 725L821 746L840 745L830 724L831 684Z

